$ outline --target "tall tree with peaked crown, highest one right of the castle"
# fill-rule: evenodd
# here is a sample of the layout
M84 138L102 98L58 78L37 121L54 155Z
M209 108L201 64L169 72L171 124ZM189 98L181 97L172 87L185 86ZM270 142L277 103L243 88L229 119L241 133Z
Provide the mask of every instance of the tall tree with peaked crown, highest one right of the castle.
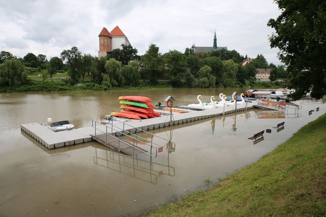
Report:
M159 50L155 44L150 44L141 58L141 73L149 78L152 85L158 84L157 76L163 72L163 58Z

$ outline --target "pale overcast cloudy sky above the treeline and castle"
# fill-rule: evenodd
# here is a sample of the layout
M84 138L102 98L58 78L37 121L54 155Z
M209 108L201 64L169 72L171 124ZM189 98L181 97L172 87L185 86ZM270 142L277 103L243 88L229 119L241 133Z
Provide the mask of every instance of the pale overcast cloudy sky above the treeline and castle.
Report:
M102 28L119 26L139 55L150 44L162 54L212 47L216 31L217 46L278 65L267 22L280 13L273 0L3 0L0 51L50 59L75 46L97 56Z

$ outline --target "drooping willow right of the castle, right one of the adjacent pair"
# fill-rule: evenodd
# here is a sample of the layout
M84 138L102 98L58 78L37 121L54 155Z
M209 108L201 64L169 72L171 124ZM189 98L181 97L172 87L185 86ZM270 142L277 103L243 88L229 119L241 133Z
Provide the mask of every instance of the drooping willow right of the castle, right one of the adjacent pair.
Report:
M122 76L125 78L126 85L137 87L140 79L139 64L137 61L132 61L127 66L122 68Z

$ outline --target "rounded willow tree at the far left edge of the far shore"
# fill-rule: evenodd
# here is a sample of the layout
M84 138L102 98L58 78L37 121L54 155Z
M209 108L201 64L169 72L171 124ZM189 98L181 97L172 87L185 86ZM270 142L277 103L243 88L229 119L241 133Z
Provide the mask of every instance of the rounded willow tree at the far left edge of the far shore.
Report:
M17 59L5 60L0 65L0 82L9 88L17 88L27 81L25 66Z

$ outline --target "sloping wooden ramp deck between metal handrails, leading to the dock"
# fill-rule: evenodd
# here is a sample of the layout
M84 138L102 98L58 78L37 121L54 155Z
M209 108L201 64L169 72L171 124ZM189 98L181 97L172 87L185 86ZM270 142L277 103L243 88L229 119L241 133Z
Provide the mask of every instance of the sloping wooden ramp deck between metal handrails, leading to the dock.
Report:
M114 134L97 134L97 135L91 135L93 140L101 143L102 145L105 145L111 149L114 149L116 151L121 151L128 156L134 156L138 154L142 154L144 152L147 152L143 148L140 148L138 146L135 146L134 144L131 144L119 137L116 137Z

